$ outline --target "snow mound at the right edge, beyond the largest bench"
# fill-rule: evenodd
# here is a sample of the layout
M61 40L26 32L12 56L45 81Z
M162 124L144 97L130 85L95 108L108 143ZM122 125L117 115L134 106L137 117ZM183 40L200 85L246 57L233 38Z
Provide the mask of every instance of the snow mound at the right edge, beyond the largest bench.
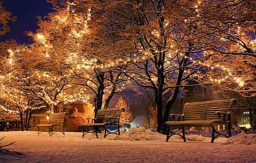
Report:
M229 137L226 142L223 142L223 145L227 144L245 144L251 145L252 143L256 143L256 134L246 134L242 132L239 135Z

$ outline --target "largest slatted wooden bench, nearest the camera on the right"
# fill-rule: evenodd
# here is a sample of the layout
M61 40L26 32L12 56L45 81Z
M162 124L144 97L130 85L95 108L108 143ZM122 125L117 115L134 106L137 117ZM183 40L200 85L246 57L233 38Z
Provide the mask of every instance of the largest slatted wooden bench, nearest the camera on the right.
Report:
M211 143L220 135L231 137L230 118L233 104L236 104L236 99L186 103L182 115L171 114L173 121L165 123L167 126L166 141L173 135L179 135L185 142L184 127L211 127ZM180 121L175 121L175 117L180 118ZM225 133L220 133L215 129L214 124L215 126L216 124L226 124L228 128ZM170 127L181 127L182 131L174 132Z

